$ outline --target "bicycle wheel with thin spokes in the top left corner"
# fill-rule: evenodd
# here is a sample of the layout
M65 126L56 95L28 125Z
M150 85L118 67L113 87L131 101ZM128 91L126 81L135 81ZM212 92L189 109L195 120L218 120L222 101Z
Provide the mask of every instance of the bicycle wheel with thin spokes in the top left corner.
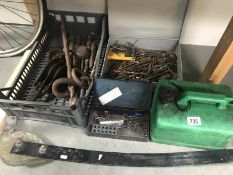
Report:
M0 0L0 57L20 54L32 46L43 20L42 0Z

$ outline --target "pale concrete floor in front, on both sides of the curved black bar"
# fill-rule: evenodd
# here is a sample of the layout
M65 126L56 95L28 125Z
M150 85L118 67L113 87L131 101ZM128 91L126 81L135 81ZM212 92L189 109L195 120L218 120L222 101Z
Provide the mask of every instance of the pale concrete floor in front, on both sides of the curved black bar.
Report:
M88 137L85 130L78 128L61 127L55 124L48 124L34 121L20 121L17 130L30 131L38 134L47 142L81 149L94 149L100 151L115 152L138 152L138 153L157 153L157 152L178 152L194 151L196 149L177 147L171 145L156 144L150 142L124 141L106 138ZM8 167L0 162L0 175L73 175L73 174L111 174L111 175L135 175L135 174L179 174L179 175L227 175L232 174L233 164L215 164L201 166L183 166L170 168L131 168L131 167L111 167L100 165L88 165L80 163L70 163L53 161L40 167Z

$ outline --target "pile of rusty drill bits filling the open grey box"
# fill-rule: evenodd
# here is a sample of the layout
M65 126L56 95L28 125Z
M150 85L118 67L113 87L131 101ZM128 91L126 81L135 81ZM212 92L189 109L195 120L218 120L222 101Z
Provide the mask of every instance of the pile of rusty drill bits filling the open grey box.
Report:
M111 61L112 66L108 78L117 80L134 80L142 82L157 82L160 79L175 79L177 77L177 57L172 52L146 50L134 46L113 44L112 50L129 50L133 53L133 61Z

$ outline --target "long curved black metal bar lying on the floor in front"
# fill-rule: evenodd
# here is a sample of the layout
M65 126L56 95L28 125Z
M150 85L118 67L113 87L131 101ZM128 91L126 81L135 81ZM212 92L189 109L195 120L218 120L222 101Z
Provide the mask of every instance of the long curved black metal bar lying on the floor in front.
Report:
M138 154L74 149L23 141L17 142L11 153L68 162L130 167L170 167L233 161L232 149Z

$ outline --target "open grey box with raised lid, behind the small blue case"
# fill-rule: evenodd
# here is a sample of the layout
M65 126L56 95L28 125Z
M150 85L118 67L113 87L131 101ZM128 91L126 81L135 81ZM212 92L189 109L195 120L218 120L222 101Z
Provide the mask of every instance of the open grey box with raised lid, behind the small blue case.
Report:
M179 39L188 3L188 0L109 0L109 40L105 55L115 42L172 51L177 56L177 79L183 79ZM106 56L101 78L106 77L111 65Z

